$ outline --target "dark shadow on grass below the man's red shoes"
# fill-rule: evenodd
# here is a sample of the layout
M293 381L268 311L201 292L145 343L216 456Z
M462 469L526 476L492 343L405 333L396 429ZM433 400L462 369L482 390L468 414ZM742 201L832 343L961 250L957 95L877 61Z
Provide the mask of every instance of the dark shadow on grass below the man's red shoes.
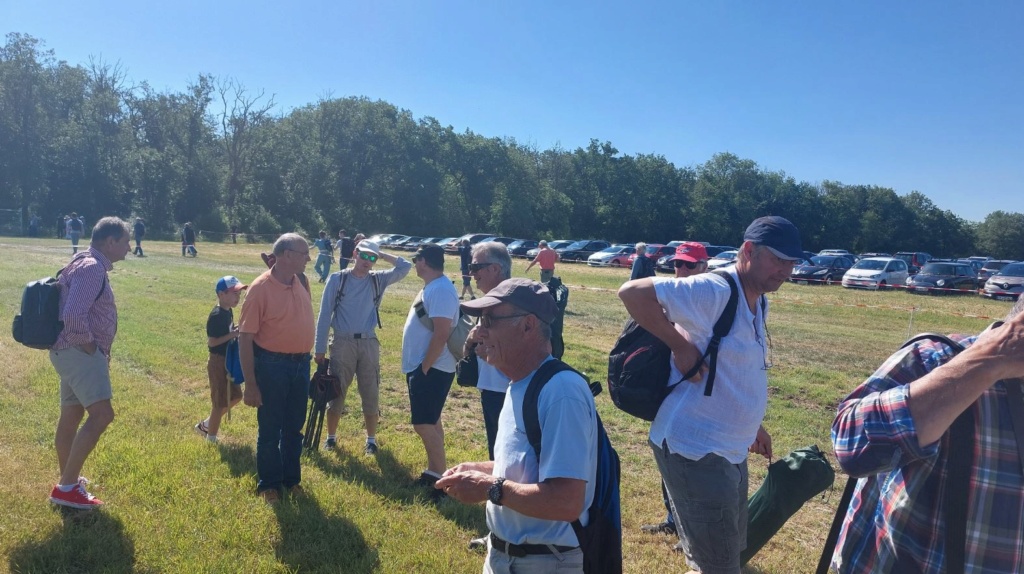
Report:
M63 519L60 530L13 548L11 572L139 572L135 543L120 520L100 510L57 506L54 512Z

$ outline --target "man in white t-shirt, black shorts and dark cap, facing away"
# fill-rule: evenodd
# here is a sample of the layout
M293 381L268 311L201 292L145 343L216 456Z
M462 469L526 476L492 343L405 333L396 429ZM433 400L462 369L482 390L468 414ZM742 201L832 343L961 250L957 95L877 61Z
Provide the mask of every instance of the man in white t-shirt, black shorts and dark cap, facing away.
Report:
M455 379L455 356L447 348L452 325L459 317L459 294L444 276L444 251L424 245L413 255L423 291L406 317L401 334L401 371L406 373L413 429L427 451L427 469L416 481L430 487L431 500L444 492L433 488L447 468L444 459L444 429L441 411Z

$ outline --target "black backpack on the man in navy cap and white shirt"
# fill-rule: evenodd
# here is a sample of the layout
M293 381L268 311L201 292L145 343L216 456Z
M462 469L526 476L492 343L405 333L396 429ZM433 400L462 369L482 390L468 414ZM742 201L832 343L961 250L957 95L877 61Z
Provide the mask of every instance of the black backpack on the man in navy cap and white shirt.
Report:
M644 421L653 421L669 393L677 385L696 374L706 358L709 360L709 369L705 396L711 396L718 369L718 349L722 338L732 329L732 323L736 318L736 305L739 302L739 290L732 275L724 270L715 270L712 273L724 277L729 283L729 301L715 322L708 349L700 356L700 360L683 374L682 379L667 385L671 372L672 350L635 320L629 319L611 352L608 353L608 391L615 406ZM761 296L762 314L766 305L765 297Z

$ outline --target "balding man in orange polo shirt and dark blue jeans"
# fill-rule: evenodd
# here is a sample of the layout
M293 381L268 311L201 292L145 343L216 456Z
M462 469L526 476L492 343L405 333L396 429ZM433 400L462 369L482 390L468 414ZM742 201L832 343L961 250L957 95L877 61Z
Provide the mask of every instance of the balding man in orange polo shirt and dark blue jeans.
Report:
M312 301L297 276L309 246L302 235L285 233L273 255L273 267L249 284L239 319L243 400L257 408L256 492L268 504L282 488L302 493L299 455L314 333Z

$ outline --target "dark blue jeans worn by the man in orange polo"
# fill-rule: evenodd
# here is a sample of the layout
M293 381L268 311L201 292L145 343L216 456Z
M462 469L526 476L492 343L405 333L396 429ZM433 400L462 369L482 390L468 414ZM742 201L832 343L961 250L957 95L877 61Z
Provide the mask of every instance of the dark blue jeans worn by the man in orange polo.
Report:
M291 488L302 480L299 456L309 393L309 359L257 353L256 382L263 399L263 405L256 409L256 490Z

